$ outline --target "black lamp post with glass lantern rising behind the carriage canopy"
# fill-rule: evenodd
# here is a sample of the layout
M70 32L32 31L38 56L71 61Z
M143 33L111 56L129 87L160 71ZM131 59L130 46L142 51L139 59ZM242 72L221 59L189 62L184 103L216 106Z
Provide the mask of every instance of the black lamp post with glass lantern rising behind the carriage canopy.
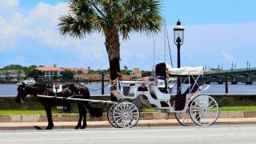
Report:
M177 51L178 51L178 56L177 56L178 68L181 67L180 49L183 44L183 40L184 40L184 28L182 26L182 22L178 20L177 25L174 26L174 43L175 45L177 45ZM178 78L177 79L177 95L180 96L181 93L182 93L181 82L180 82L180 78Z

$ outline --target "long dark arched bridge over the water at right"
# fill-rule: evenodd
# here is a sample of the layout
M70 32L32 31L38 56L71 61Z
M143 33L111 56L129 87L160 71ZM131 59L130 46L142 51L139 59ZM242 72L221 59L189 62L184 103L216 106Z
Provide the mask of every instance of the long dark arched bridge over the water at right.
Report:
M218 82L223 84L227 79L231 84L236 85L238 82L251 85L256 82L256 67L246 69L231 69L231 70L211 70L205 71L200 81L210 84L210 82Z

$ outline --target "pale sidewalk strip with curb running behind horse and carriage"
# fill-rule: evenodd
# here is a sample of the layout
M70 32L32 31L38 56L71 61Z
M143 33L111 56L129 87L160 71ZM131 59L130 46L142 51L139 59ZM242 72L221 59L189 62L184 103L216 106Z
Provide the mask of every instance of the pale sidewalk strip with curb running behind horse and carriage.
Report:
M77 122L54 122L54 129L74 129ZM256 124L256 118L218 118L214 125ZM1 122L0 130L36 130L44 129L47 122ZM139 120L137 127L181 126L175 119ZM108 121L87 122L87 128L112 127Z

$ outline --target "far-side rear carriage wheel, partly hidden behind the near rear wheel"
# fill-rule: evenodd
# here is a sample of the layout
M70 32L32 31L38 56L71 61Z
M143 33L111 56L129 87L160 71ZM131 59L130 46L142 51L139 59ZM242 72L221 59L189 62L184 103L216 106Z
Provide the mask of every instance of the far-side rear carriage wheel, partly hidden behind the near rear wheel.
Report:
M182 126L196 126L196 123L194 123L193 120L190 118L189 109L186 110L186 112L174 114L178 123L180 123Z

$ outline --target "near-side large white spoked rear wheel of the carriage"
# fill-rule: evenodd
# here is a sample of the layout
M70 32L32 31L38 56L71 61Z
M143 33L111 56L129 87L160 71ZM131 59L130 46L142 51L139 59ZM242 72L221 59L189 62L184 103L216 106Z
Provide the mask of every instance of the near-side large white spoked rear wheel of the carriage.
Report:
M190 118L198 126L210 126L217 121L218 103L209 95L199 95L190 104Z

